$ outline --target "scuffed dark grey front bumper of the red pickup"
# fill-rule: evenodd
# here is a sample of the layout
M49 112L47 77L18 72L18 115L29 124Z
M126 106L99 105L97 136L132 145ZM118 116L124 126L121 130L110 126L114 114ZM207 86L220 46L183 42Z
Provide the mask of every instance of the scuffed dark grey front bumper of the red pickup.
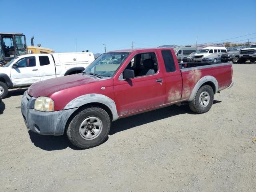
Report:
M21 113L27 128L42 135L63 135L68 118L78 108L54 112L41 112L34 110L33 100L24 93L21 102Z

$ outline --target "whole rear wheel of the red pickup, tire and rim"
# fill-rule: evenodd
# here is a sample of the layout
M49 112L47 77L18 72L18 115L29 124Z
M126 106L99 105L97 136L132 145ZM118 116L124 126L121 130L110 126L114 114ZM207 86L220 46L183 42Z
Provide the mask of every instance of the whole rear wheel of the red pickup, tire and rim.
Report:
M205 113L212 107L214 92L209 85L202 86L194 96L193 100L189 102L189 107L193 112Z

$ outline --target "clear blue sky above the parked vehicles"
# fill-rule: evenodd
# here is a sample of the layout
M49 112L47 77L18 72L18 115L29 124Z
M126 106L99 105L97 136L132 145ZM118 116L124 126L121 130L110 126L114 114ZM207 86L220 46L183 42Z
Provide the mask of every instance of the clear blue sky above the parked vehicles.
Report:
M256 32L256 2L247 0L0 0L1 32L56 52L198 44ZM255 38L256 34L230 41ZM77 41L77 46L76 45Z

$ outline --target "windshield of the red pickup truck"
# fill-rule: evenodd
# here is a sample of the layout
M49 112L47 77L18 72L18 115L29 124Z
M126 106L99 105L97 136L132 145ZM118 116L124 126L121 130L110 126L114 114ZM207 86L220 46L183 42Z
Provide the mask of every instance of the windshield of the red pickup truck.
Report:
M84 73L112 77L128 55L129 53L127 52L104 53L96 58L96 60L84 70Z

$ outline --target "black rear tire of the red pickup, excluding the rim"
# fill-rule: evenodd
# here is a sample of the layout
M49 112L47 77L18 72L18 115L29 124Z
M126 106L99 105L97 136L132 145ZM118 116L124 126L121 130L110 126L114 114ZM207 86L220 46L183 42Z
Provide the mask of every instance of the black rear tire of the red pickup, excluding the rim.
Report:
M205 92L209 94L209 102L205 107L203 107L201 106L199 99L200 99L200 95ZM209 85L204 85L196 92L196 96L193 98L192 101L189 102L188 105L193 112L201 114L201 113L208 112L210 110L210 108L212 107L213 99L214 99L214 92L212 90L212 87Z

